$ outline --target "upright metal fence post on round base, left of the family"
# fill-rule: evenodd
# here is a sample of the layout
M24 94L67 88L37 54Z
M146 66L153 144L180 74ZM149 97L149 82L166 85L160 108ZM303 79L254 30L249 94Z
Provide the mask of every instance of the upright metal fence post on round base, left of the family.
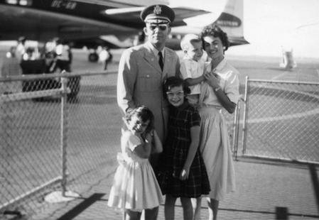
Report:
M67 148L67 78L61 77L61 123L60 123L60 147L61 147L61 175L62 196L66 191L66 148Z

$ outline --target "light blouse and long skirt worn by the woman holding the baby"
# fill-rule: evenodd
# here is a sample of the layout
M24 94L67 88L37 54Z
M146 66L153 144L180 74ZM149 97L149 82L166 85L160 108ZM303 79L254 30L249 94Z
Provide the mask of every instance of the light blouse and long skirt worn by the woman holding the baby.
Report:
M217 74L220 88L227 94L230 101L237 104L239 72L225 59L217 65L215 70L207 67L205 71L213 71ZM222 114L222 104L207 83L202 84L200 106L200 151L210 180L211 191L208 197L223 200L228 192L236 189L234 164L227 125Z

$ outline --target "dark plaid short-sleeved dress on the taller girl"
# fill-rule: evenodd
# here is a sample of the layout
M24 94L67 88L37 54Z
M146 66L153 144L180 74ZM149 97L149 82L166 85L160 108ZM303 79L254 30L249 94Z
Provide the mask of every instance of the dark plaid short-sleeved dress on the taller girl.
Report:
M187 101L178 108L171 106L168 138L159 163L162 168L158 172L158 182L163 194L196 198L210 192L210 183L199 148L190 166L188 179L179 179L190 148L190 128L199 125L200 115Z

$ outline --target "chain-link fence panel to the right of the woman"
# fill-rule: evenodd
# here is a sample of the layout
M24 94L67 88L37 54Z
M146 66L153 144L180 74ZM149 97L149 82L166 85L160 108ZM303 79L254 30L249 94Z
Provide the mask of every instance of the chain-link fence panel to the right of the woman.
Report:
M319 163L319 84L247 78L242 155Z

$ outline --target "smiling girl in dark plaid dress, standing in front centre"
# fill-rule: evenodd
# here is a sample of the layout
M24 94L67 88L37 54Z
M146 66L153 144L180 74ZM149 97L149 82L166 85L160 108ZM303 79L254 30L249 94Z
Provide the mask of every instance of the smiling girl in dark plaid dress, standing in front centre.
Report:
M174 206L180 197L184 219L193 219L190 198L210 192L207 172L198 148L200 115L186 95L190 89L183 79L169 77L163 90L170 105L168 137L163 150L158 180L166 194L165 218L174 219Z

